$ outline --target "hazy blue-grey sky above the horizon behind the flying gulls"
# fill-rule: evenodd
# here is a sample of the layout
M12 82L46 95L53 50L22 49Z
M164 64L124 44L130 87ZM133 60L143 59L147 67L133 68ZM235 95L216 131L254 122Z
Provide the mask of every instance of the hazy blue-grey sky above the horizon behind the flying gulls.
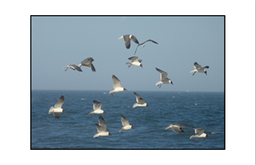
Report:
M135 56L143 69L126 62L137 44L126 49L124 34L142 43ZM32 17L32 89L106 90L112 75L128 91L224 92L224 17ZM96 73L62 69L94 58ZM194 62L209 65L207 76L196 73ZM174 85L155 86L168 73Z

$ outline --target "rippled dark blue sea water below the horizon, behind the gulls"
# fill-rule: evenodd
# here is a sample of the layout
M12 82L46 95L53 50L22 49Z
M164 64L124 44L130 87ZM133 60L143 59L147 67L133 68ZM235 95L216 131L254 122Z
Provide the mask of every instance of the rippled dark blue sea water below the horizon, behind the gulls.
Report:
M133 108L134 92L109 91L31 91L31 149L225 149L224 92L145 92L142 96L150 108ZM51 106L64 95L59 119L48 114ZM102 102L107 131L99 136L95 124L98 114L90 117L93 100ZM121 115L134 129L122 134ZM182 123L184 133L168 132L170 124ZM209 139L195 138L194 128L203 128Z

